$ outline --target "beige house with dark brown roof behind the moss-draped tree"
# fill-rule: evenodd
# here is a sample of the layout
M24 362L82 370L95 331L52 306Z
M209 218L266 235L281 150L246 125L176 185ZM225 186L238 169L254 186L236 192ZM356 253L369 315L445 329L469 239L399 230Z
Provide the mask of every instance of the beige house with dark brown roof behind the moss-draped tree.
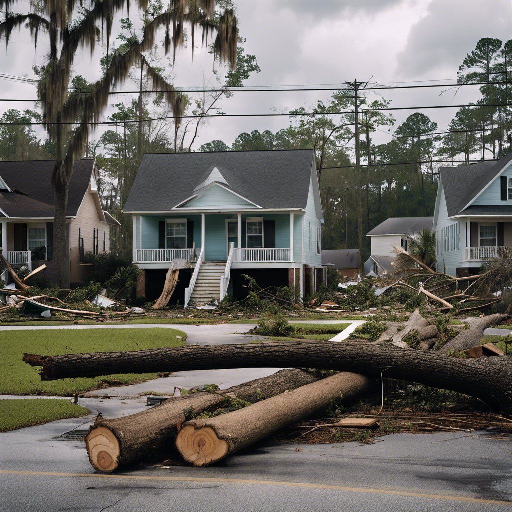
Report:
M45 264L45 276L56 281L53 265L54 199L51 177L55 160L0 162L0 249L13 265L30 270ZM110 228L120 226L103 211L95 160L75 163L67 210L71 283L88 278L87 252L110 251ZM6 280L7 274L2 276Z

